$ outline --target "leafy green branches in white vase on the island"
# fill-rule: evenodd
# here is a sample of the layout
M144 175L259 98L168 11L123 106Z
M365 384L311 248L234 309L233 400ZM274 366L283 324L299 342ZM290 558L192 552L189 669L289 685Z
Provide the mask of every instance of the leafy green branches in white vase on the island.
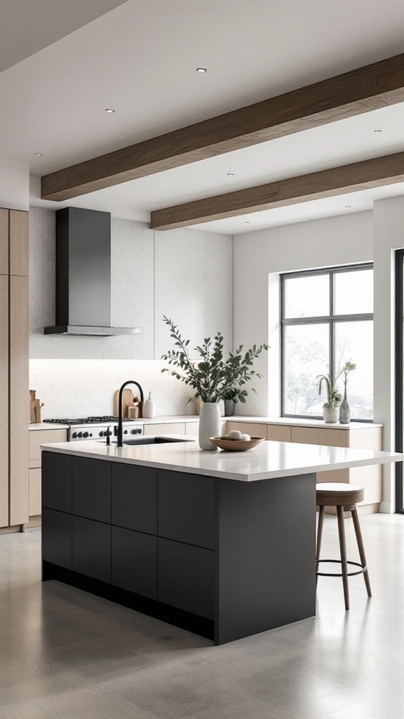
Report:
M247 397L245 385L253 377L262 377L259 372L252 369L256 359L267 344L254 344L252 349L243 352L241 344L236 352L229 352L229 357L224 357L224 336L218 332L214 339L207 337L201 346L195 347L199 359L190 359L189 339L183 339L178 327L171 319L164 317L165 324L170 327L170 336L174 340L175 347L169 349L162 359L166 359L173 369L164 367L162 372L169 372L177 380L195 390L190 401L200 397L203 401L199 418L199 444L201 449L216 449L209 437L221 433L221 419L219 401L229 395L235 400L244 403ZM254 388L252 390L255 392Z

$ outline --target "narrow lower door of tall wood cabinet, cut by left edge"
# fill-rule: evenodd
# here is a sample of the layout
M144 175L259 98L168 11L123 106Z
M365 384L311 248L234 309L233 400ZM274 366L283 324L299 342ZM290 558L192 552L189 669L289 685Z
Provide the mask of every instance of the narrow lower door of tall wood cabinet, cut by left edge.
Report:
M9 524L9 278L6 275L0 275L0 388L0 527L6 527Z

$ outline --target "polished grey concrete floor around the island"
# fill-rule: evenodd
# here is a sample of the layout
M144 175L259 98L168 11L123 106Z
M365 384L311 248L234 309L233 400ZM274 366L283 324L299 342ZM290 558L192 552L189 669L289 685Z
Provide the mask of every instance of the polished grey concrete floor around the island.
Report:
M404 516L361 523L371 600L352 577L346 613L341 580L320 578L316 619L221 647L42 585L40 530L1 536L1 719L403 719ZM338 557L331 517L322 554Z

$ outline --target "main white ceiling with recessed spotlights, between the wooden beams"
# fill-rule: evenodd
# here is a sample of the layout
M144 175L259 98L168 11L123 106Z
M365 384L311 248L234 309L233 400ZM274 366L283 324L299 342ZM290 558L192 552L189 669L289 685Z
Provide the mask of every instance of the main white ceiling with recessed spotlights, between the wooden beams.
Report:
M0 162L28 164L33 175L58 170L404 52L403 30L402 0L129 0L0 74ZM208 72L196 73L201 66ZM69 204L149 221L152 209L404 150L403 120L403 105L373 111ZM203 228L237 234L345 204L368 209L372 192ZM63 206L42 203L35 179L32 202Z

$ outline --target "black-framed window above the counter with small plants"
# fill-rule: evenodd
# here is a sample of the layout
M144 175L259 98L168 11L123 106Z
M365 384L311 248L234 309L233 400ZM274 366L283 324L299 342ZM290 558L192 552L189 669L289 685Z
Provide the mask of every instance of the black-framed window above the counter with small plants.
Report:
M282 416L322 418L317 375L333 380L348 360L352 419L373 417L372 265L281 275ZM343 390L340 378L339 389Z

